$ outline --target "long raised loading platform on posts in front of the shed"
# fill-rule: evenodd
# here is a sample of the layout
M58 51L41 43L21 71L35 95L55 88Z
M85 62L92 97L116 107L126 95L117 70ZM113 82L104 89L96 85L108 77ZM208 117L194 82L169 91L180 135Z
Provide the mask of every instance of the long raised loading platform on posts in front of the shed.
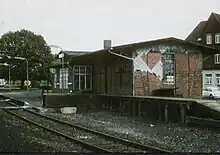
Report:
M59 94L46 93L43 97L44 107L85 107L86 109L108 110L122 115L148 117L185 123L186 116L220 119L220 102L214 100L131 96L110 94ZM213 112L215 111L215 112Z

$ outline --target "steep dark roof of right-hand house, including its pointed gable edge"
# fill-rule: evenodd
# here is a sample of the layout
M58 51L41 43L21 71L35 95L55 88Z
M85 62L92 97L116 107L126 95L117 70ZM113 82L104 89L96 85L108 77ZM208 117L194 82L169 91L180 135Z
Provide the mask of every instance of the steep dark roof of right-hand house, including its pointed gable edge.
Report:
M209 16L209 19L211 16L214 16L216 20L220 23L220 14L212 12ZM208 23L209 19L207 21L201 21L194 29L193 31L187 36L185 40L192 41L192 42L198 42L197 39L201 37L201 34L203 30L206 27L206 24Z

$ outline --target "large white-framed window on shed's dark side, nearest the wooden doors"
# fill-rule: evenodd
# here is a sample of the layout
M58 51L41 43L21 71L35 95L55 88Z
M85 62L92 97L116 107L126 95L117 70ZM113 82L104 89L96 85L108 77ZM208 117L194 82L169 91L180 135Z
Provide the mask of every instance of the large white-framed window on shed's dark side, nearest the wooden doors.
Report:
M91 90L92 89L92 67L74 66L74 89Z

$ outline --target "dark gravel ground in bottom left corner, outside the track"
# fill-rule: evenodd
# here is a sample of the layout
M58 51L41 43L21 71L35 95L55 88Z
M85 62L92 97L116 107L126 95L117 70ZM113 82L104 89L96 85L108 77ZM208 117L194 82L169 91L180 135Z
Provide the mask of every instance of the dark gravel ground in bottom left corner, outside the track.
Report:
M88 152L0 110L0 152Z

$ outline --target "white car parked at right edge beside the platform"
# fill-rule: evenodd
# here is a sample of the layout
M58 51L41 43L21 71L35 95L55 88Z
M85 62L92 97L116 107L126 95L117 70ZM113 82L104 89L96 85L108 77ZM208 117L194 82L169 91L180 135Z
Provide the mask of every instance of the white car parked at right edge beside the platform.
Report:
M209 99L220 99L219 87L206 87L203 89L202 96Z

